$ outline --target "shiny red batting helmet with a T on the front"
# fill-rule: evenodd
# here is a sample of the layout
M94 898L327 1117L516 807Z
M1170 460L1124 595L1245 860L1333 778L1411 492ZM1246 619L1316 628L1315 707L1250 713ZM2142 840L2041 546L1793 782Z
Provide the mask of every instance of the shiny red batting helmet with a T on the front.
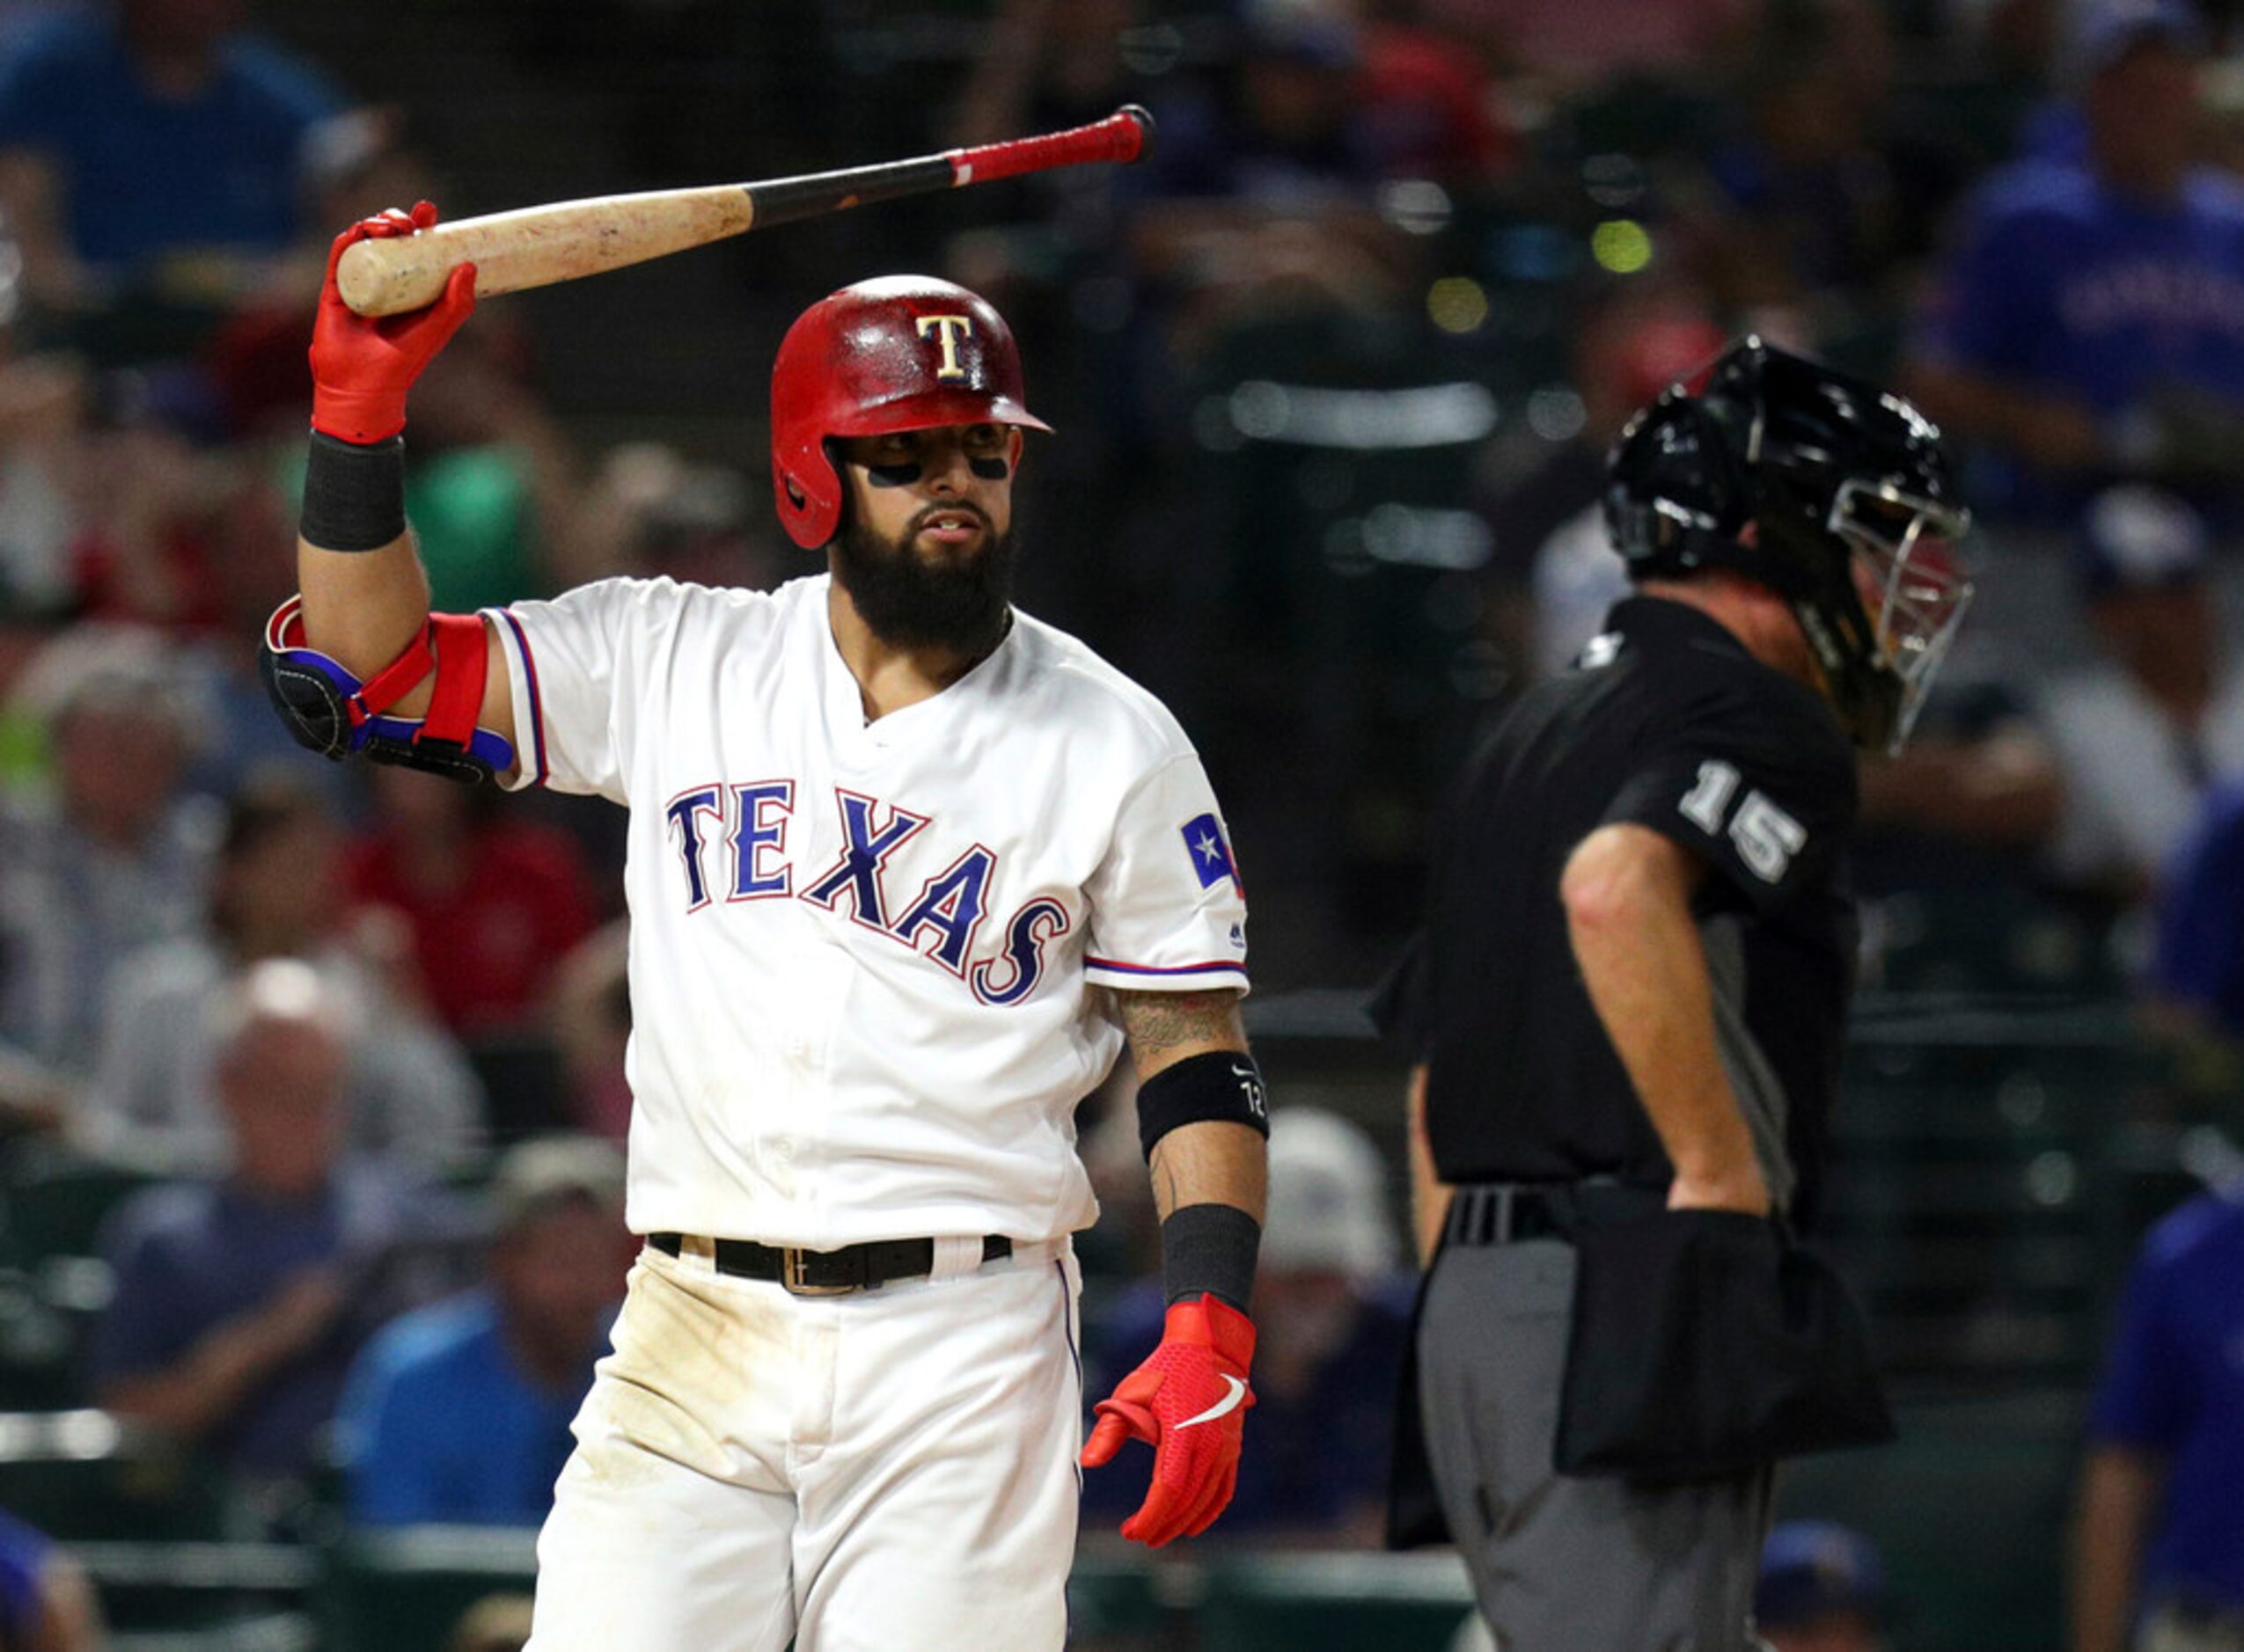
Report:
M936 424L1052 429L1021 406L1021 352L987 299L880 276L803 310L772 364L772 494L794 543L817 550L842 525L828 438Z

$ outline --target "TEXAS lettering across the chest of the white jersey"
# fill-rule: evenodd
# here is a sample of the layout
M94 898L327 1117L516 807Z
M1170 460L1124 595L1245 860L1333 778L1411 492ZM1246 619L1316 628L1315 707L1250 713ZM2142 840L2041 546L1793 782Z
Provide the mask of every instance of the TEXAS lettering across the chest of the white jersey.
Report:
M794 862L788 860L794 790L792 779L711 781L691 786L669 801L664 815L684 869L689 914L716 905L718 898L727 905L808 900L934 958L965 981L983 1003L1019 1003L1034 990L1043 974L1046 945L1068 931L1066 907L1050 896L1023 902L1005 918L996 952L974 958L974 934L987 916L996 853L974 844L922 882L909 900L895 902L889 889L889 860L920 835L929 817L839 786L833 799L842 817L842 855L797 889ZM711 880L709 862L718 862L718 880Z

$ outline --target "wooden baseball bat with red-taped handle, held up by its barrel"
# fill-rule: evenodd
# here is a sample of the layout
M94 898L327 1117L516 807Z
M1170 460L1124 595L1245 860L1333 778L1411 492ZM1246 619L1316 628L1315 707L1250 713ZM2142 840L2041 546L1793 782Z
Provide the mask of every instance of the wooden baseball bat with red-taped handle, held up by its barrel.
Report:
M411 236L361 240L343 249L337 292L361 316L393 316L438 301L460 265L476 265L476 296L489 299L554 281L597 276L646 258L700 247L747 229L839 213L875 200L987 184L1088 162L1133 162L1147 153L1153 117L1135 103L1104 121L1043 137L951 148L909 162L853 166L839 173L772 177L761 184L651 189L642 195L521 206L485 213Z

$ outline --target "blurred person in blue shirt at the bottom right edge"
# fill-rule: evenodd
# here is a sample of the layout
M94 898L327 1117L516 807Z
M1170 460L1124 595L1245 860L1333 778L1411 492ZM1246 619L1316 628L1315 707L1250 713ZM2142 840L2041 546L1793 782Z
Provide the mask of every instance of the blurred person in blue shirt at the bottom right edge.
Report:
M2231 1192L2161 1221L2127 1282L2089 1414L2073 1652L2244 1648L2240 1486L2244 1199Z

